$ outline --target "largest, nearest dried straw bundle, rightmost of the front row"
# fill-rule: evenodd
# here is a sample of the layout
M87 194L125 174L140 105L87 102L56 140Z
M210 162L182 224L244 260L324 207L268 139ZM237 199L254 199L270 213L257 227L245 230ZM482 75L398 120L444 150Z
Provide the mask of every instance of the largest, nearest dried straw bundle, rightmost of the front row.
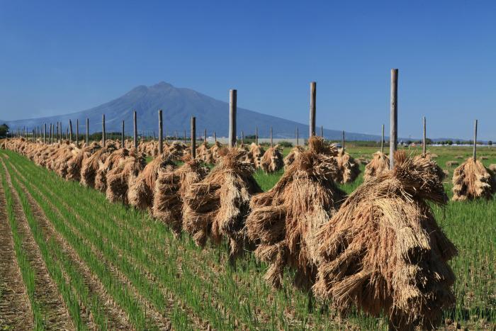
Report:
M456 247L427 200L448 200L426 157L395 153L395 168L364 182L317 232L315 296L342 313L352 305L390 318L390 327L432 328L453 305Z

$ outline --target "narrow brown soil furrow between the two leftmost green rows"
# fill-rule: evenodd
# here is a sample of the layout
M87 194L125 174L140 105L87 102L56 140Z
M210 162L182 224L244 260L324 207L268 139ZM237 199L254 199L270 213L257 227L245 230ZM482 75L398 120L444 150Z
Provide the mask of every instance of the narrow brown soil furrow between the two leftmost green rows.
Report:
M50 274L47 271L45 262L41 257L38 245L36 245L33 234L30 231L28 220L24 214L18 193L13 188L11 177L2 160L4 169L6 170L6 179L9 188L12 191L14 211L16 213L16 222L19 233L23 239L23 249L28 255L31 267L35 270L35 300L40 303L45 316L46 330L73 330L74 325L67 307L57 291Z

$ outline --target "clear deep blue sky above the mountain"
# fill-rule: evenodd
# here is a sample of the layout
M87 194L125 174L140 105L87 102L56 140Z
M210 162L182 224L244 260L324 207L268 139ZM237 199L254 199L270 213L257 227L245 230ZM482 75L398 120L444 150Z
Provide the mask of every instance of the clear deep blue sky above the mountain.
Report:
M496 140L496 1L0 0L0 118L81 111L160 81L317 125ZM387 129L386 129L387 130Z

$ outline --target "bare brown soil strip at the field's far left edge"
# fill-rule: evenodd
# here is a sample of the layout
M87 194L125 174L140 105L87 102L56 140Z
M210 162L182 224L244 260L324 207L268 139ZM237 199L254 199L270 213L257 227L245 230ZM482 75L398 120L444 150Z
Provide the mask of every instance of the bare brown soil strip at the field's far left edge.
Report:
M33 313L23 284L0 184L0 330L33 329Z

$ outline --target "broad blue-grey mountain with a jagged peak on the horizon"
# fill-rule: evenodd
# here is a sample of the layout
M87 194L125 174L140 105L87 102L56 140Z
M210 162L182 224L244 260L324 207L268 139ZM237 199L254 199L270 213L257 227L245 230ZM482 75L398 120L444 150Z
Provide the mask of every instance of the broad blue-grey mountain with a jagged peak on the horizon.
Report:
M69 119L71 119L75 132L76 119L79 119L79 133L84 133L86 131L84 123L86 118L89 118L90 133L94 133L101 131L101 117L105 114L107 132L120 132L121 122L125 120L125 132L130 134L133 132L133 111L135 110L137 111L138 131L145 133L145 135L152 135L153 132L157 135L157 110L159 109L163 110L164 134L168 132L169 135L173 135L175 130L178 130L180 136L183 135L184 130L189 133L190 118L196 116L198 136L203 135L204 128L207 129L207 135L210 136L213 131L218 137L228 135L228 102L213 99L192 89L177 88L165 82L152 86L137 86L118 99L86 111L45 118L0 121L0 123L6 122L12 131L24 126L28 130L32 130L36 126L41 128L43 123L47 123L48 130L48 123L60 121L65 132ZM294 138L296 127L300 131L301 138L308 136L308 125L237 108L238 135L241 134L241 131L244 131L244 135L253 135L256 126L261 138L269 137L271 126L274 128L274 138ZM320 128L317 128L317 133L320 133ZM338 140L341 139L342 132L324 129L324 135L327 139ZM381 140L381 137L361 133L346 133L346 140Z

